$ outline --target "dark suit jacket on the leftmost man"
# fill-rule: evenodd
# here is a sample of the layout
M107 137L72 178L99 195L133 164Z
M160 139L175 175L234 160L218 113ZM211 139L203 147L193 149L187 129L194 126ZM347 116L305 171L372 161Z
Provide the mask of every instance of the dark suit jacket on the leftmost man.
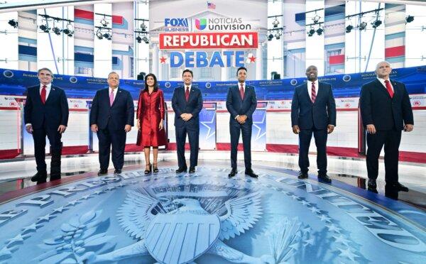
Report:
M25 123L31 123L34 129L58 129L68 124L68 101L64 90L57 86L50 87L45 104L41 102L40 84L27 89L26 103L23 108Z

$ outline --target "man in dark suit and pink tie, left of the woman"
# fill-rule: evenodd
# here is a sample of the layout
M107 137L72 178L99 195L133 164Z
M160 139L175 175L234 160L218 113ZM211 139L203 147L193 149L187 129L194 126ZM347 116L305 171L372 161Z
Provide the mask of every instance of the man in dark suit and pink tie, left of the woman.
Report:
M109 152L112 145L114 174L120 174L124 165L126 133L131 131L134 119L134 106L131 94L119 87L119 75L108 75L109 88L96 92L90 110L90 126L99 139L98 175L106 175L109 166Z

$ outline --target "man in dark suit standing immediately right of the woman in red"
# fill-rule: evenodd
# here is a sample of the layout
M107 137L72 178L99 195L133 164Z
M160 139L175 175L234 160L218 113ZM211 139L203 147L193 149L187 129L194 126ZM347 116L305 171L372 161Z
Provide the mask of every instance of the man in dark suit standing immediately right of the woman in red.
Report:
M198 114L202 109L202 94L200 89L192 87L192 71L182 72L183 86L173 91L172 107L175 111L176 147L178 149L178 170L186 172L185 141L188 135L190 141L190 173L195 172L198 163L198 145L200 141L200 119Z

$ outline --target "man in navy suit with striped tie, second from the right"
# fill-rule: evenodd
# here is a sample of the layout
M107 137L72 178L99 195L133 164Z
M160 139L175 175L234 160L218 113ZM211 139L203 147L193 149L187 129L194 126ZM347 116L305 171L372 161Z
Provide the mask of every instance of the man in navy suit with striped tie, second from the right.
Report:
M317 67L306 69L307 83L295 88L291 102L291 125L299 135L299 179L307 179L309 146L312 133L317 145L318 180L332 182L327 176L327 134L336 126L336 104L332 86L318 81Z

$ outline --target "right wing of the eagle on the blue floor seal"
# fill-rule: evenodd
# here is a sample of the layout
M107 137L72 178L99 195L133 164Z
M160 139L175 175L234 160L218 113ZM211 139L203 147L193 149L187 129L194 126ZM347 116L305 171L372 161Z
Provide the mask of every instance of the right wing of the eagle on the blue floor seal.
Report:
M219 239L234 238L253 227L262 214L260 204L261 194L259 192L227 200L225 202L226 214L219 216L221 221Z

